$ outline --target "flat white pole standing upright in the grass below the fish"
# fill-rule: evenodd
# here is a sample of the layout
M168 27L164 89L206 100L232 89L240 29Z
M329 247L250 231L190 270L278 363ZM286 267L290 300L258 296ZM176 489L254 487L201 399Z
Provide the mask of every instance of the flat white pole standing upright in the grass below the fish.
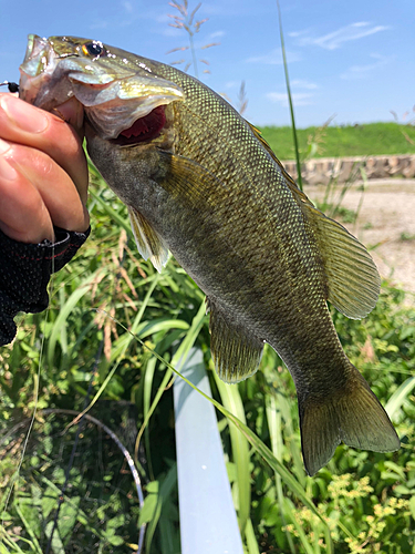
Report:
M211 397L201 350L181 373ZM179 378L174 401L181 554L243 554L215 408Z

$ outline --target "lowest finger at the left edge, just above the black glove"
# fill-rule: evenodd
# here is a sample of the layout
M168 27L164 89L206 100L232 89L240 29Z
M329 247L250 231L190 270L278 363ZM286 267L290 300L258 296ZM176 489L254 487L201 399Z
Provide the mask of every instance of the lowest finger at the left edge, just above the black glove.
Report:
M0 150L10 145L0 140ZM0 229L14 240L54 242L53 225L39 191L0 155Z

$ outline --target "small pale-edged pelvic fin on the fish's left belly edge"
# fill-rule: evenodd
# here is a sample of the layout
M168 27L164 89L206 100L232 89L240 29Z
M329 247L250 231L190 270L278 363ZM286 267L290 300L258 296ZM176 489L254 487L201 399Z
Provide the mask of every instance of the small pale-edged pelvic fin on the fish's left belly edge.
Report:
M168 249L162 237L154 230L147 219L135 208L128 206L129 220L139 254L152 261L158 273L168 259Z

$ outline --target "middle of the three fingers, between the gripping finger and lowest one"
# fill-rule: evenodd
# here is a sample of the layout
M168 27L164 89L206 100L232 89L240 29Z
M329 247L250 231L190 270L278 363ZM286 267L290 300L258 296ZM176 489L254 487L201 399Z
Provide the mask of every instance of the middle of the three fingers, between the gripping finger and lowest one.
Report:
M6 161L39 192L53 225L84 232L90 218L77 189L66 172L44 152L12 144Z

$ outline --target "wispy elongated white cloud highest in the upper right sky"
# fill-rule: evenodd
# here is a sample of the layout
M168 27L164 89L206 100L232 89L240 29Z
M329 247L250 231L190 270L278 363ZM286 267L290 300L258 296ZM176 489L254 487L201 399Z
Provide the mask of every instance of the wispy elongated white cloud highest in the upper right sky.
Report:
M302 31L290 33L290 35L297 38L297 43L301 47L317 45L325 50L335 50L344 42L359 40L381 31L387 31L388 29L391 27L373 25L367 21L357 21L322 37L312 37L309 32Z

